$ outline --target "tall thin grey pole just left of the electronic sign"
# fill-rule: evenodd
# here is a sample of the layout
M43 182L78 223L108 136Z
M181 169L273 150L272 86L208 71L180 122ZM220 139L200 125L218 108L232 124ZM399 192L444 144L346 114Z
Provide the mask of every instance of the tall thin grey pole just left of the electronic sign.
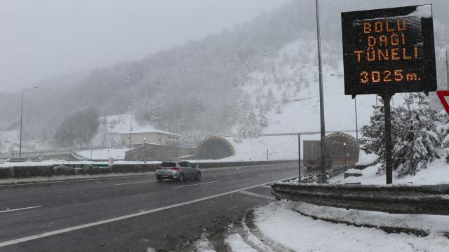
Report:
M324 125L324 97L323 97L323 70L321 68L321 38L320 38L320 15L318 0L315 0L316 10L316 42L318 45L318 69L320 87L320 133L321 133L321 183L326 183L326 127Z

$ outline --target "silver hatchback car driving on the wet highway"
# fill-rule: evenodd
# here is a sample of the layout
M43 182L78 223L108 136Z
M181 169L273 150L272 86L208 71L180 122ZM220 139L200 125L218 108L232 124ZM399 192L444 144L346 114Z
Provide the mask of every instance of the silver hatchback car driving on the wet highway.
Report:
M187 179L200 180L201 172L191 162L162 162L156 169L156 179L158 181L163 179L177 179L179 181L186 181Z

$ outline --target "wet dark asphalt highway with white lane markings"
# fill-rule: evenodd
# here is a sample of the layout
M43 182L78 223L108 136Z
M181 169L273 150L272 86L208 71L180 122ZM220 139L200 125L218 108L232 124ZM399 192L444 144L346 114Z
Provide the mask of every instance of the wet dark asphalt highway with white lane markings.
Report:
M306 172L306 171L302 171ZM201 235L219 215L270 200L297 163L203 170L201 181L154 175L0 186L0 251L145 251Z

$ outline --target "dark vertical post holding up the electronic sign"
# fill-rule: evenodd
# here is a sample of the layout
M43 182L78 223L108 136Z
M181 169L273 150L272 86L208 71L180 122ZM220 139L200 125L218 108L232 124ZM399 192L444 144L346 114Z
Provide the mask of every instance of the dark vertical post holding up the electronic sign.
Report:
M382 99L384 101L385 118L385 172L387 175L387 184L391 184L393 183L393 164L391 160L391 153L393 149L393 146L391 144L391 94L382 94Z

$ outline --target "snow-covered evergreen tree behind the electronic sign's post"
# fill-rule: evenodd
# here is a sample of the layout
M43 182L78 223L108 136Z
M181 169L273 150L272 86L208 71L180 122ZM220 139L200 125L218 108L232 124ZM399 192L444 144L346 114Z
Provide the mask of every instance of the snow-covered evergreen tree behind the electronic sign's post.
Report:
M435 158L441 136L436 130L439 118L423 94L410 93L403 106L391 108L391 140L393 169L396 176L415 174ZM370 124L362 128L361 148L379 155L379 172L385 169L384 107L374 106Z

